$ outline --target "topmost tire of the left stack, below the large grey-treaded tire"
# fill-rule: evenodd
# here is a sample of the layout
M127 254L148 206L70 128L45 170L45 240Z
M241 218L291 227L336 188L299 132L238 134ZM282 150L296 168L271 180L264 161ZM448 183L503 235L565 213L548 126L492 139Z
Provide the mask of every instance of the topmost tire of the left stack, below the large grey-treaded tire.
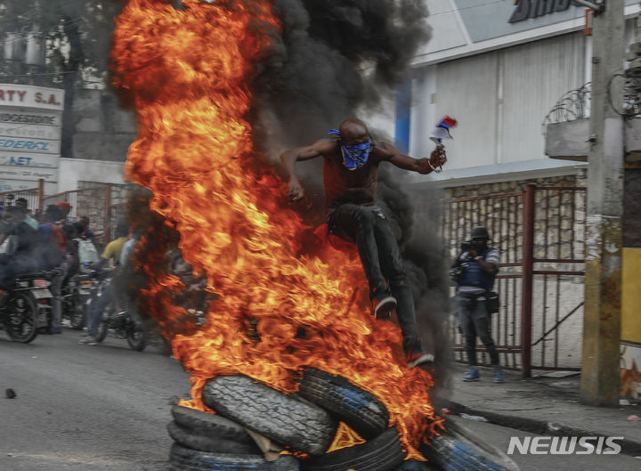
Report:
M218 437L247 446L256 444L242 426L227 418L183 406L174 406L172 415L176 425L193 434Z

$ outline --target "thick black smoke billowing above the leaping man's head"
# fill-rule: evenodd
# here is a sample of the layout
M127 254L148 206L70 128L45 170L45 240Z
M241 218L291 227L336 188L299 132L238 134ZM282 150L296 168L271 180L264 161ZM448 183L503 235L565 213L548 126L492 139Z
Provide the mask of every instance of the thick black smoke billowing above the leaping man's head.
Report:
M259 143L301 145L376 107L430 37L423 0L275 0L273 11L281 31L254 84Z

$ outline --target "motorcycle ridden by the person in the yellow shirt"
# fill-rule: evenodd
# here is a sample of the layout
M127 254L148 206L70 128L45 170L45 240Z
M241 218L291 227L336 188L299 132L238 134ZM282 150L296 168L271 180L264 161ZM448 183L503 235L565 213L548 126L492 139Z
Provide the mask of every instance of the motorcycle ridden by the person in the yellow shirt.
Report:
M98 297L103 296L110 288L111 278L103 278L90 306L98 302ZM113 301L110 301L101 313L101 321L95 335L96 342L104 340L110 331L114 337L126 338L127 344L137 352L142 352L149 343L149 332L142 327L141 321L129 310L117 313Z

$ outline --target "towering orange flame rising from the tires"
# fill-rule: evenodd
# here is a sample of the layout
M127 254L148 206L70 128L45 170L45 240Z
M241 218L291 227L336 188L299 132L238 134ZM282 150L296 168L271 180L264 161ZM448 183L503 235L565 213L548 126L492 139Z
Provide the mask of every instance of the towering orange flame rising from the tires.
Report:
M207 323L173 339L203 409L208 378L242 373L282 391L310 365L376 394L410 457L434 432L430 376L404 367L400 330L374 321L355 251L301 256L306 231L286 208L283 183L253 149L244 119L256 61L278 21L267 0L130 0L118 18L114 85L133 100L138 137L127 175L153 191L151 209L174 223L183 256L219 295ZM142 267L150 271L148 267ZM163 293L181 285L150 272L143 296L158 319L183 308ZM159 300L159 301L158 301ZM159 315L162 312L162 315ZM247 336L257 321L260 341Z

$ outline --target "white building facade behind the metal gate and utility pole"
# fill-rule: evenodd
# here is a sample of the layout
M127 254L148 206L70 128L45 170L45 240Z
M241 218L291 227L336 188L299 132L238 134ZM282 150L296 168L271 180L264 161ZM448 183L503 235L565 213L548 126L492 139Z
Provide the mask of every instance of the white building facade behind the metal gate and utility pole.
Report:
M571 0L520 0L517 5L514 0L426 3L432 38L415 56L410 82L398 93L404 100L397 100L391 120L394 137L409 155L425 157L434 149L429 134L436 123L450 116L458 126L451 133L454 139L444 142L448 162L442 173L412 176L409 183L420 191L423 183L439 182L448 199L515 194L528 183L569 190L537 193L533 257L545 262L535 260L534 264L539 275L531 287L531 355L534 366L580 369L583 277L572 273L580 272L583 265L565 262L583 258L585 235L578 221L585 217L584 192L570 189L585 187L588 164L549 158L542 124L564 94L591 80L587 9ZM628 44L635 42L634 19L639 11L638 1L626 0ZM584 104L589 111L589 102ZM520 203L515 203L512 213L502 215L496 214L504 210L497 209L498 204L488 208L484 203L469 203L446 225L493 227L497 236L493 244L504 252L515 252L507 260L514 266L503 274L518 279L523 243ZM466 237L465 231L452 230L450 225L444 232L452 252ZM502 355L507 358L511 346L521 341L522 291L515 283L501 284L500 289L511 307L504 306L493 321L493 331L505 333L495 340L503 345ZM641 358L637 364L641 365ZM521 365L516 360L511 366Z

